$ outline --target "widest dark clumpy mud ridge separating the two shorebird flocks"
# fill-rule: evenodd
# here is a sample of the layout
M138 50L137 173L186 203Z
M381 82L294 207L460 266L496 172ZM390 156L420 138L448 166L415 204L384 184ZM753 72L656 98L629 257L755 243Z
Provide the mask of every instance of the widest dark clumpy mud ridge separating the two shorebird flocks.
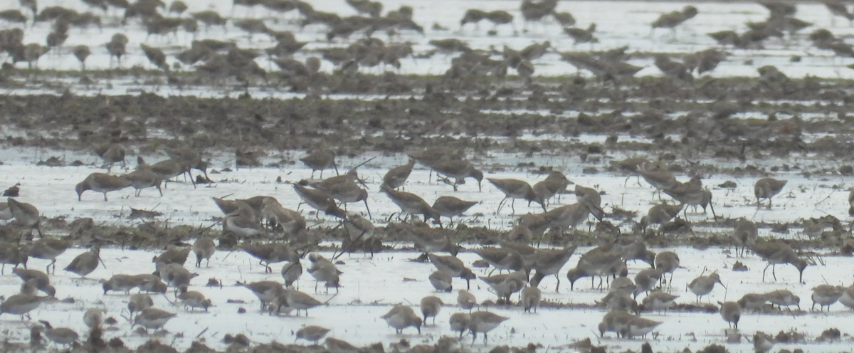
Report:
M156 81L161 74L139 75L155 75ZM184 80L194 77L184 75ZM38 85L38 79L47 81L46 76L51 74L39 74L27 87ZM330 146L340 156L443 145L469 150L475 157L490 151L582 159L637 153L740 160L748 166L795 153L851 161L854 148L854 116L846 108L854 100L854 81L845 80L705 77L687 85L667 78L522 81L385 74L319 75L304 87L275 80L259 84L253 88L305 95L80 97L73 90L6 95L0 97L0 124L21 133L2 141L60 150L88 150L115 141L140 152L171 140L201 150ZM184 86L190 88L222 87ZM357 96L330 98L335 94ZM518 138L523 134L547 136ZM608 138L604 144L548 138L582 134ZM634 139L623 141L625 137Z

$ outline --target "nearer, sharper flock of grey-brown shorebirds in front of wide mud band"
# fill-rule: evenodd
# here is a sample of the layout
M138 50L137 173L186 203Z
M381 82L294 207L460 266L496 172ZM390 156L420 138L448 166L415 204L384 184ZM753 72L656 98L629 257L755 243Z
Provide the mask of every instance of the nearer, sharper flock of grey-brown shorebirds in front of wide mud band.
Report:
M107 163L107 168L125 160L125 150L119 144L104 145L96 151ZM80 200L85 197L85 191L96 191L102 193L104 201L108 201L109 192L120 191L127 187L136 188L137 195L143 188L155 187L160 190L163 180L173 179L181 174L190 174L193 169L206 175L204 177L197 175L196 179L190 175L194 183L196 180L210 182L207 177L208 162L203 161L198 152L187 148L167 148L166 153L170 156L169 159L152 165L140 159L137 169L127 174L91 174L75 186L75 191ZM703 187L699 178L695 177L685 182L679 181L664 162L653 162L643 158L613 162L619 170L629 174L629 177L636 175L646 180L656 191L672 197L673 202L664 202L649 209L646 215L635 222L637 226L633 229L634 234L629 236L620 236L619 230L611 226L611 229L606 232L616 232L616 234L612 233L616 238L582 254L578 257L575 267L562 272L566 262L575 255L576 244L568 243L559 249L537 249L531 244L541 238L547 230L563 232L567 228L575 229L588 221L591 215L599 221L600 225L607 224L608 221L605 221L605 218L612 215L607 214L602 208L600 191L582 185L576 185L574 190L567 190L570 185L569 179L557 171L549 173L545 179L535 185L529 185L528 182L518 179L486 178L505 195L496 213L509 203L515 214L513 203L516 199L537 203L541 206L542 212L519 216L515 227L506 232L506 238L500 246L474 250L483 258L484 265L488 264L494 270L500 271L497 275L490 273L488 276L478 277L457 257L461 248L453 240L453 236L439 229L443 227L442 217L453 221L453 217L464 214L477 202L442 196L430 205L422 197L402 189L405 188L407 178L416 163L430 168L431 173L436 173L438 180L447 183L448 188L453 188L454 191L460 185L465 185L466 179L477 180L478 190L480 190L484 179L483 172L473 163L466 161L458 150L434 148L413 151L408 156L410 160L407 164L391 168L383 176L379 189L392 203L400 207L401 215L407 215L410 219L407 221L407 218L399 215L401 229L419 250L424 251L424 260L435 265L436 271L430 274L429 279L436 291L452 291L453 278L465 279L466 285L471 279L479 278L495 293L496 303L511 304L513 295L518 293L520 306L524 307L525 311L535 311L542 298L538 285L548 276L554 276L557 279L556 290L559 289L560 276L564 274L569 279L572 289L576 281L584 277L590 277L593 283L593 279L597 276L605 279L613 277L607 294L597 303L609 310L599 325L599 331L603 335L606 332L616 332L618 336L624 338L646 336L661 322L649 320L640 316L640 313L667 310L676 305L678 296L670 294L670 287L673 272L680 268L679 256L674 251L662 251L657 254L647 249L642 239L645 236L654 237L664 232L664 226L678 217L681 212L687 212L689 206L702 207L704 212L706 207L711 207L714 215L712 193ZM330 150L313 151L303 156L300 161L312 170L312 178L317 172L322 178L327 169L337 171L336 154ZM368 209L364 183L365 181L359 178L356 168L350 169L346 174L326 179L301 180L293 183L295 197L299 197L302 203L316 209L317 217L323 213L331 220L340 221L347 230L349 238L342 244L341 253L354 249L356 245L371 252L381 248L371 246L376 244L378 239L374 237L375 227L371 221L372 216ZM757 208L764 200L768 203L766 207L771 208L772 198L786 185L787 180L758 179L754 185ZM576 203L558 205L559 202L555 198L567 193L576 195ZM854 209L854 192L849 199ZM283 240L295 239L295 236L306 232L307 229L307 221L301 213L284 208L275 197L258 196L247 199L214 197L213 202L225 214L221 221L224 231L233 233L237 238L252 239L261 234L273 233L281 234L276 235L276 238ZM364 203L368 216L364 217L344 210L345 203ZM389 215L389 220L392 216ZM412 220L415 216L423 216L423 221ZM717 215L714 216L717 219ZM41 235L38 209L32 204L22 203L9 197L7 203L0 203L0 218L14 219L19 227L31 228L31 238L33 231ZM427 221L431 221L432 224L426 223ZM649 228L654 225L659 225L658 231ZM810 230L805 227L804 232L821 233L824 227L834 227L834 225L824 220L813 220L810 227L817 229ZM638 234L643 236L639 237ZM736 256L748 256L746 251L750 250L752 254L767 262L767 266L763 269L763 281L769 267L772 268L772 275L776 280L775 265L791 264L798 270L798 283L802 283L804 269L810 264L816 264L815 259L800 254L786 242L758 237L757 225L744 218L735 221L731 237L732 244L736 245ZM307 257L311 263L307 272L313 276L316 283L324 283L327 292L331 288L338 291L342 271L336 268L335 257L327 259L312 252L313 244L298 244L295 240L290 242L283 240L266 244L247 243L240 248L256 257L265 267L266 272L272 272L270 268L272 263L285 262L281 270L284 282L265 280L238 283L238 285L246 287L259 298L262 310L277 315L295 311L299 315L301 310L324 304L311 295L294 289L293 284L301 278L303 272L301 259ZM26 315L46 298L52 297L55 290L50 286L48 276L51 265L56 271L54 263L56 256L71 245L72 242L68 239L42 236L30 244L21 246L6 244L0 247L0 262L15 265L15 274L24 281L19 294L8 297L0 304L0 314ZM196 254L196 267L199 267L202 265L202 260L209 262L216 251L216 246L212 238L202 236L197 238L191 247L167 250L155 257L155 274L116 274L110 279L102 280L104 292L129 293L133 288L138 288L140 292L129 297L128 309L132 315L135 315L133 316L134 325L139 325L146 331L163 327L176 314L151 307L151 298L142 291L165 293L168 287L173 287L176 301L181 301L190 308L208 309L212 305L209 299L199 291L188 290L190 279L196 277L196 274L184 268L184 262L191 251ZM441 253L448 255L440 255ZM46 268L48 274L26 269L28 257L52 260ZM630 279L627 268L627 262L630 260L644 262L650 267L641 269L634 279ZM99 248L94 246L90 251L75 258L65 270L85 276L97 268L99 261ZM18 265L23 265L24 268L18 268ZM504 271L507 273L502 274L501 272ZM670 281L666 279L666 274L670 274ZM700 297L711 293L716 284L723 285L720 275L714 271L693 279L687 285L687 289L692 291L699 301ZM601 279L599 286L600 288L603 286ZM40 297L36 291L43 291L48 297ZM315 285L315 291L317 291L317 285ZM638 297L641 297L640 303ZM818 304L820 309L824 309L837 301L854 308L854 285L850 287L817 285L814 288L813 307ZM737 328L743 313L769 310L769 304L781 308L797 305L799 308L799 298L792 291L777 290L768 293L750 293L738 301L720 304L723 320ZM383 315L383 319L397 332L407 327L415 327L420 332L420 327L427 319L433 317L435 321L443 305L445 303L442 303L440 298L428 296L424 297L420 303L421 316L406 305L397 305L388 314ZM450 327L454 332L459 332L459 337L462 337L465 332L471 332L474 340L477 338L477 333L483 333L485 342L487 333L508 319L486 310L471 312L471 309L477 305L477 300L466 290L459 290L458 305L461 309L470 310L468 313L459 312L450 317ZM61 331L66 332L67 336L55 338L50 332L58 329L50 328L49 325L48 323L45 327L39 328L48 338L54 339L59 344L76 341L77 333L68 330ZM328 330L325 328L310 326L301 330L298 337L317 342L326 332ZM773 339L768 342L773 344ZM325 344L333 350L331 346L345 343L335 338L328 338Z

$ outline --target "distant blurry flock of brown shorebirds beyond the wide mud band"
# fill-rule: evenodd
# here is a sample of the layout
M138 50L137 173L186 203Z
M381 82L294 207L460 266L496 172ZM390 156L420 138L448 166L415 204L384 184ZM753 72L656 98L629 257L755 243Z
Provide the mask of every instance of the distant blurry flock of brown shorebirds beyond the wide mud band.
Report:
M143 55L149 59L152 65L167 74L170 70L178 68L194 68L198 72L207 74L213 78L237 78L247 81L251 78L267 79L271 68L265 70L256 59L267 57L269 62L278 67L281 77L295 86L304 86L306 82L319 74L321 62L326 61L335 65L336 73L354 74L360 68L371 70L371 68L400 68L401 60L407 57L429 57L436 53L444 55L457 55L451 68L447 70L447 76L453 78L467 77L470 74L494 74L504 76L508 69L515 70L519 76L529 78L535 72L535 62L547 52L557 50L548 41L532 43L521 50L506 47L498 50L474 50L470 44L459 38L433 39L429 44L434 47L427 53L417 53L412 49L412 43L401 42L395 36L401 32L424 33L424 26L412 20L413 9L411 6L401 6L400 9L389 10L383 14L383 4L371 2L370 0L346 0L358 15L342 16L321 9L314 9L312 4L301 0L234 0L234 8L238 6L254 9L260 8L272 16L285 14L298 14L298 30L302 31L306 26L324 26L326 38L330 42L344 40L347 46L333 46L320 49L319 56L313 55L313 51L304 49L308 42L299 41L295 32L289 30L278 30L271 27L270 21L263 18L229 18L220 15L213 10L187 13L188 6L181 0L175 0L168 6L161 0L137 0L129 3L126 0L82 0L92 11L78 12L61 6L39 9L36 0L20 0L20 9L7 9L0 11L0 23L7 22L12 27L0 31L0 51L8 54L11 64L27 62L32 68L38 63L39 57L49 51L67 50L75 56L81 69L85 69L86 59L91 56L92 50L88 45L79 44L73 48L63 49L62 45L69 36L68 30L73 27L88 28L91 26L102 26L102 12L107 16L111 11L123 12L120 21L122 25L130 21L137 21L143 26L150 36L175 36L178 32L186 32L196 38L196 33L208 32L210 27L226 26L237 27L246 32L251 41L255 35L266 35L275 43L272 47L263 50L238 48L231 41L223 41L214 38L193 40L189 49L177 53L167 53L162 48L152 44L139 44ZM569 12L559 11L559 0L524 0L518 8L518 14L524 21L524 31L532 23L554 23L563 32L573 39L575 44L594 44L597 38L597 26L591 23L587 28L576 26L576 19ZM845 3L838 0L823 2L831 14L831 18L844 17L848 21L854 19ZM726 60L728 48L744 50L761 49L763 42L769 38L791 37L796 32L813 26L813 23L799 20L794 17L797 8L794 3L760 2L769 10L769 16L765 21L749 22L749 28L745 32L724 30L710 32L708 35L714 38L720 48L709 48L689 53L684 57L674 60L668 55L657 54L654 56L654 65L667 77L679 83L690 83L694 73L715 69L718 63ZM652 31L657 28L670 29L673 38L676 38L676 29L687 21L699 15L696 7L688 5L684 9L662 14L652 21ZM469 30L474 26L480 30L479 23L488 21L493 24L488 30L489 34L496 34L499 26L512 26L518 15L513 15L508 10L483 11L481 9L468 9L459 21L459 31ZM44 43L24 43L24 28L26 23L52 22L51 32ZM219 29L218 29L219 30ZM322 31L324 31L322 30ZM432 30L447 31L448 28L433 26ZM383 42L375 36L378 32L389 35L389 43ZM299 33L299 32L297 32ZM359 38L350 40L350 38ZM820 50L833 51L837 56L854 56L851 44L846 44L841 38L837 38L827 29L816 29L811 32L810 41ZM122 32L116 32L111 40L102 45L98 50L107 50L111 62L116 58L120 66L122 56L133 53L128 48L129 38ZM601 53L585 53L579 51L564 51L558 53L565 62L570 62L579 70L586 70L600 79L621 79L635 75L642 69L627 62L628 48L618 48ZM169 56L174 56L174 60ZM294 58L295 54L307 55L307 59L299 61ZM500 56L496 59L495 56ZM172 62L170 64L170 62ZM364 71L364 70L363 70ZM770 71L770 72L769 72ZM369 71L370 72L370 71ZM773 66L759 69L763 78L780 79L779 70ZM180 79L172 74L169 75L170 84L180 83ZM772 77L773 76L773 77Z

